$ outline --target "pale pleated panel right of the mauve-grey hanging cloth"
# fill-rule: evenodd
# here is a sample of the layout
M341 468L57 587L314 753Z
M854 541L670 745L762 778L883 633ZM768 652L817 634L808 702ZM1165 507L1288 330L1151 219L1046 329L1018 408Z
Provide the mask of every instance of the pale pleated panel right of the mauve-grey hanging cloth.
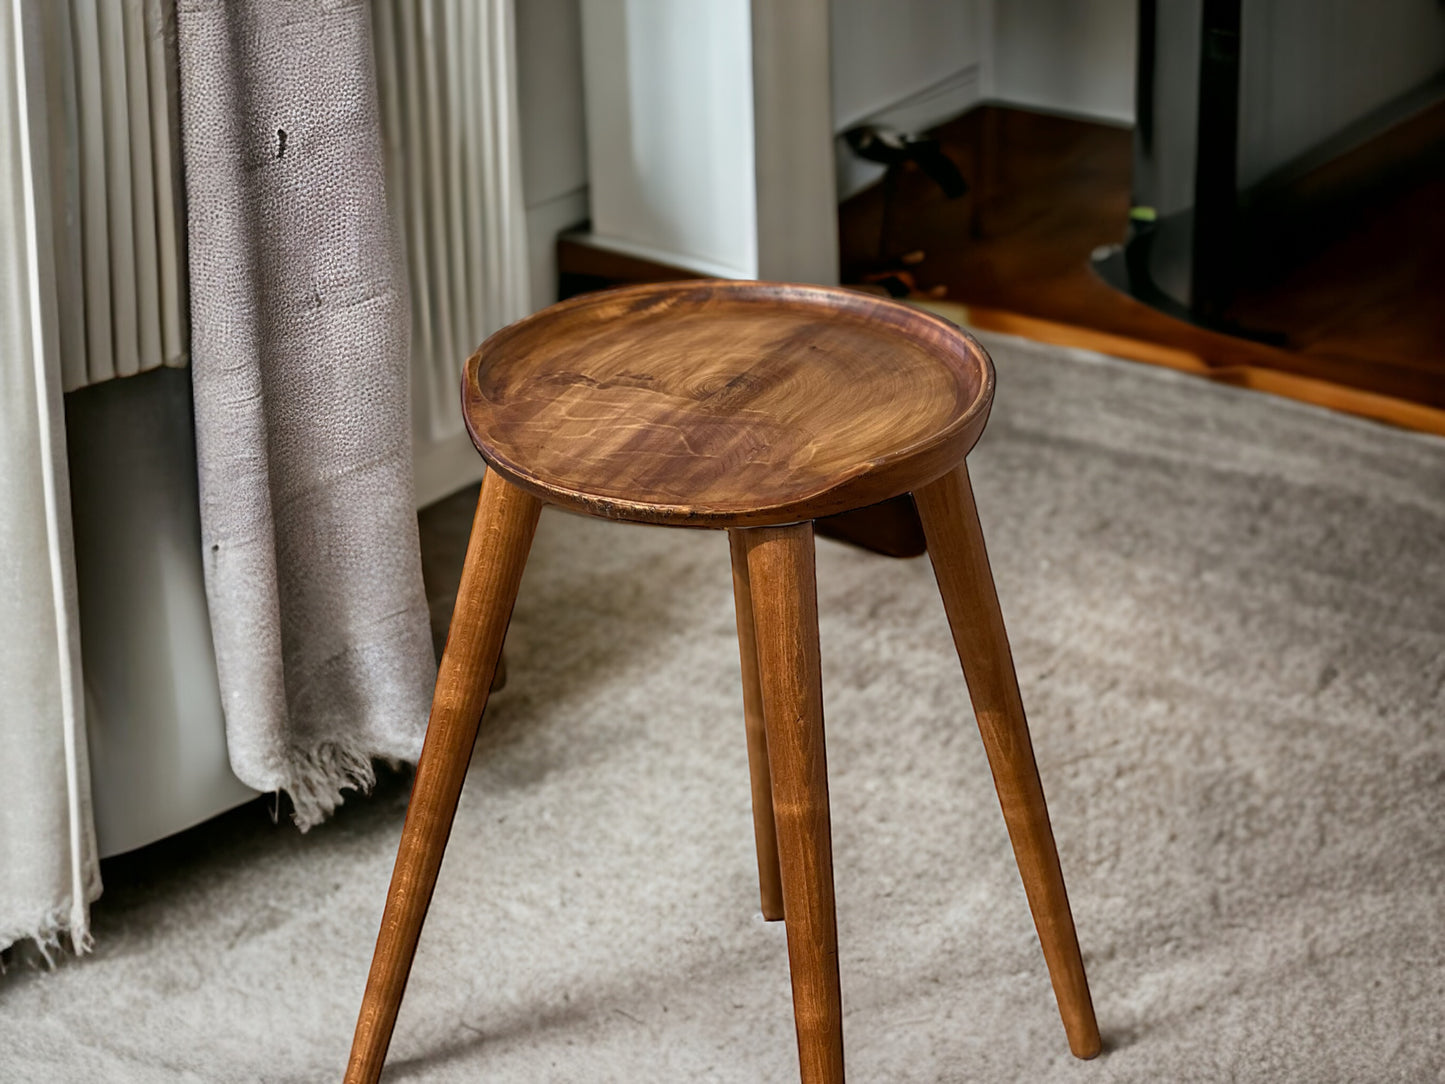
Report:
M462 432L462 363L530 311L513 12L512 0L373 0L371 16L420 445Z

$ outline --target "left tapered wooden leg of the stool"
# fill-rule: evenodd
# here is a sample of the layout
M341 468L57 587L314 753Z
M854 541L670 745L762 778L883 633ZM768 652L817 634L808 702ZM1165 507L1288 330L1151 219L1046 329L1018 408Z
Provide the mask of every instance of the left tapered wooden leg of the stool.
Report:
M381 1075L540 510L536 497L487 471L351 1042L347 1084L373 1084Z

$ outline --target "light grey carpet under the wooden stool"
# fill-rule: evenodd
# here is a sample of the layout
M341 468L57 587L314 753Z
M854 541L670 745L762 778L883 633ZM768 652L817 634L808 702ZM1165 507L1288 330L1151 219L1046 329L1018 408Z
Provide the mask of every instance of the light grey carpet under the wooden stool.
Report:
M1441 1080L1445 441L988 343L974 489L1110 1048L1068 1054L926 559L822 541L848 1078ZM423 516L454 568L470 516ZM727 539L545 513L507 659L386 1078L796 1080ZM97 957L0 990L0 1078L340 1080L405 802L107 867Z

